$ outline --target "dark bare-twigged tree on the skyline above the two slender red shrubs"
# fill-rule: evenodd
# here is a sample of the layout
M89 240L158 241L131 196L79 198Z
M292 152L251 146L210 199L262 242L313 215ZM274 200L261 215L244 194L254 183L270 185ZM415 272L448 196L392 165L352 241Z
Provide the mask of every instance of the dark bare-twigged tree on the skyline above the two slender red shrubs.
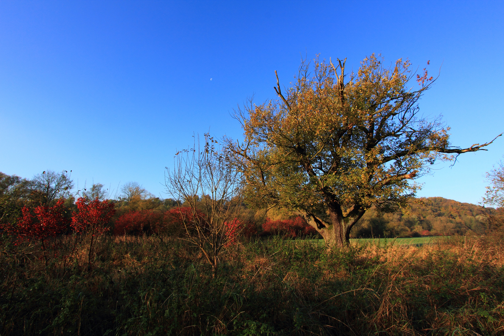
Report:
M30 181L31 197L42 206L50 206L55 199L69 197L73 187L74 181L66 170L61 173L52 170L43 171Z

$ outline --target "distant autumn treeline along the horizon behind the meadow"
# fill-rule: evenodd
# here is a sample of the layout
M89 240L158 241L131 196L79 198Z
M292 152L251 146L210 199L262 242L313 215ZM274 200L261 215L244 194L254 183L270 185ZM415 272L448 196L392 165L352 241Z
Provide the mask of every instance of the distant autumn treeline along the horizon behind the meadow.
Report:
M0 172L0 224L15 224L21 218L23 207L52 206L59 198L65 198L67 217L76 211L75 196L90 199L107 199L108 190L102 184L79 190L73 195L70 190L73 181L64 171L52 171L35 175L32 179L7 175ZM111 200L115 215L107 224L110 232L118 234L171 235L176 232L178 221L173 213L184 207L183 200L160 199L136 182L124 184L120 196ZM501 213L502 209L460 203L443 197L415 198L409 207L393 213L380 213L369 209L350 232L352 238L370 237L419 237L452 236L473 233L488 233L489 216ZM295 238L318 236L303 219L288 213L247 209L246 229L242 234L248 237L279 235ZM501 217L498 215L496 218ZM175 220L174 220L175 219ZM495 222L495 218L494 221ZM498 221L497 221L498 222ZM500 222L499 222L500 223ZM497 223L498 224L498 223ZM498 226L498 225L497 225Z

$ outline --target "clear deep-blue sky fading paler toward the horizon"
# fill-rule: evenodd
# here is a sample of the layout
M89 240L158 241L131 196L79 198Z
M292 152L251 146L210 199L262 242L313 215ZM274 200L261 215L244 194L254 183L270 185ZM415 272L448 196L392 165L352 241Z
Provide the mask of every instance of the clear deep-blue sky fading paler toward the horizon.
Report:
M239 137L229 116L275 98L300 55L409 57L441 75L420 107L443 114L454 145L504 131L504 2L0 2L0 171L73 170L166 197L164 167L193 133ZM212 81L210 79L212 78ZM439 164L419 196L477 203L504 154Z

